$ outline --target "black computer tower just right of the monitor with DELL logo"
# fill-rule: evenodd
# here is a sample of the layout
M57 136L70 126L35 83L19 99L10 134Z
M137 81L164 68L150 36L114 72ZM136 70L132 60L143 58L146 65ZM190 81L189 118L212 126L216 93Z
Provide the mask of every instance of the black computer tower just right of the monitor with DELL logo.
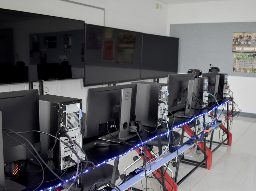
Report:
M137 83L136 120L143 126L159 126L159 121L169 121L168 115L168 85L155 82Z

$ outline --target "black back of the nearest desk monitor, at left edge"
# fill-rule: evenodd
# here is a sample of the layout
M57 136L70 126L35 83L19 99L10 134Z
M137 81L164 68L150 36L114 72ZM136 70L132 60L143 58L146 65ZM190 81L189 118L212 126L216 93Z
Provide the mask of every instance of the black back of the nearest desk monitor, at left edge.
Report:
M40 130L38 90L0 93L0 111L2 112L3 129L11 129L16 132ZM15 134L9 135L25 144L34 153L26 140ZM22 136L26 137L37 151L41 150L39 133L25 133ZM5 134L3 134L3 150L4 163L32 157L31 153L22 145Z

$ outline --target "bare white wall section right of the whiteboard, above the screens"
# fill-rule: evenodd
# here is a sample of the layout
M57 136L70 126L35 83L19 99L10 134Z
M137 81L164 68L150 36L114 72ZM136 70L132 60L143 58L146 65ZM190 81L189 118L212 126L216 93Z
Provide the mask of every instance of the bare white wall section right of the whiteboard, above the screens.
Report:
M105 8L105 26L169 36L166 31L167 4L156 0L85 0ZM155 4L162 5L156 9Z

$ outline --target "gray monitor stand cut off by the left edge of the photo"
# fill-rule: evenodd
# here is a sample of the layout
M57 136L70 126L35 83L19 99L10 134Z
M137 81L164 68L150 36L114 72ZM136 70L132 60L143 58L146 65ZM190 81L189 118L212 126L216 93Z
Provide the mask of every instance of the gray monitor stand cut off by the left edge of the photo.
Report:
M2 112L0 111L0 184L6 190L24 190L25 186L22 186L10 179L4 179L4 160L3 160L3 129L2 129Z

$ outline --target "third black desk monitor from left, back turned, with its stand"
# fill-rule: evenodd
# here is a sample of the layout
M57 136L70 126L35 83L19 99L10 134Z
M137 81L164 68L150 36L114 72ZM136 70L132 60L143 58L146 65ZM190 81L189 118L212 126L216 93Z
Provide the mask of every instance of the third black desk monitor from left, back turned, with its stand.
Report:
M189 115L192 102L195 74L168 75L169 111L182 111L184 116Z

